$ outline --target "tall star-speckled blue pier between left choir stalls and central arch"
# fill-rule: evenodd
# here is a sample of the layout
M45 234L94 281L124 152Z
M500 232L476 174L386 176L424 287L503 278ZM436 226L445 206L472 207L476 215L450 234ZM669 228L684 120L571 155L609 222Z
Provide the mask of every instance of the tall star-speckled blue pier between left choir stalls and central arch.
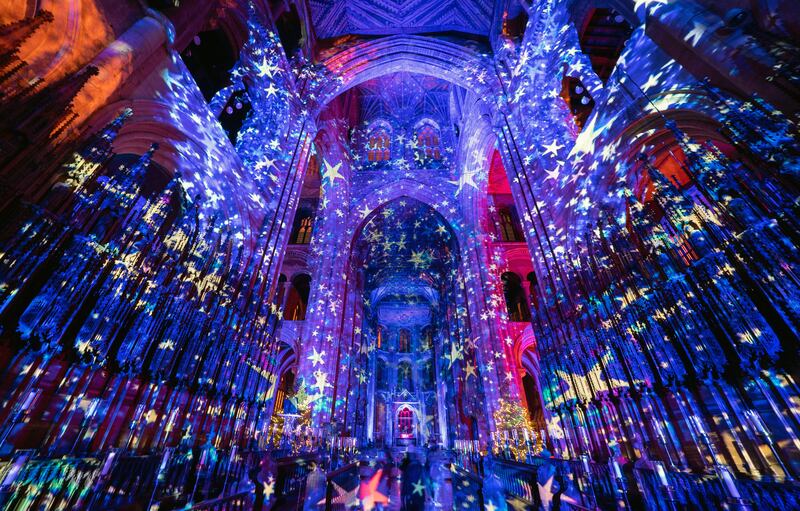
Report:
M246 89L251 104L236 151L248 180L256 183L247 199L261 222L255 232L244 236L253 240L253 245L236 269L243 271L245 282L243 291L235 297L241 317L229 324L227 347L217 352L219 363L226 365L209 369L214 384L224 384L258 410L249 414L246 430L262 434L266 433L280 378L276 331L283 311L275 300L281 261L316 128L295 91L294 76L278 34L252 7L248 30L231 80L237 88Z

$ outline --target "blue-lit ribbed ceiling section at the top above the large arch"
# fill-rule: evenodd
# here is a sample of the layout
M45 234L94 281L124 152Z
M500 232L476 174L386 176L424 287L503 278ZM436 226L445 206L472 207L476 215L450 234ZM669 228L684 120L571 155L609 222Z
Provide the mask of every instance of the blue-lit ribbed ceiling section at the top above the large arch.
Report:
M463 32L487 35L495 0L311 0L317 37Z

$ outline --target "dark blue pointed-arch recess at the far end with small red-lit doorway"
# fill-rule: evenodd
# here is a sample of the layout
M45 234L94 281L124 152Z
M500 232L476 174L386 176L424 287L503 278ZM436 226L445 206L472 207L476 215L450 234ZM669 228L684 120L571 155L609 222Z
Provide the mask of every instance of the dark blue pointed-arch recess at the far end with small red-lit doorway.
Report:
M456 393L452 365L441 360L470 335L465 325L450 325L460 264L451 227L430 206L399 197L366 218L351 258L371 343L359 350L366 352L361 365L374 383L364 389L369 408L360 426L385 445L446 443L458 419L447 405Z

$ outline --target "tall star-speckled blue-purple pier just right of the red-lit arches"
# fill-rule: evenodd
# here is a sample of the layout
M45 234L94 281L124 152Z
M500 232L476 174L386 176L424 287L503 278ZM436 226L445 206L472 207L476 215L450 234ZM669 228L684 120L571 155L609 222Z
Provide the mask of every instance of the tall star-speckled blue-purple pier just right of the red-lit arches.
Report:
M538 277L536 293L541 310L533 310L532 315L542 368L540 387L543 405L550 415L550 438L564 439L559 449L563 450L575 444L577 432L568 409L578 397L580 386L576 384L582 376L566 378L574 374L572 369L578 367L579 361L563 356L567 351L564 344L571 337L563 331L563 314L571 293L562 268L568 230L555 222L564 210L574 206L565 203L564 196L565 189L574 184L570 180L570 148L575 139L574 130L570 129L572 117L558 91L564 69L562 57L577 55L580 49L575 47L577 38L559 37L562 27L569 25L566 10L554 11L545 4L537 6L530 16L517 66L505 78L506 102L499 106L494 123L498 149ZM574 61L572 67L578 62Z

